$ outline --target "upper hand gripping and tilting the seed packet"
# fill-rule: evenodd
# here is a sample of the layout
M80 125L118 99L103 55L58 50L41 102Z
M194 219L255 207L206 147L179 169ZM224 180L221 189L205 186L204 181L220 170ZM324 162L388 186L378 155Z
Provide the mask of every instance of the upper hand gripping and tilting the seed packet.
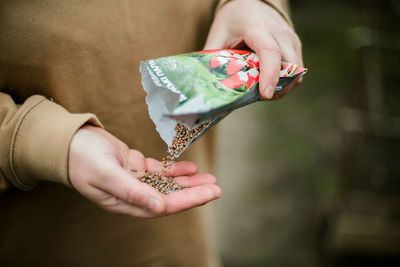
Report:
M301 78L274 95L281 61L303 66L301 42L286 20L260 0L235 0L222 6L204 49L249 47L260 58L260 94L279 99L301 82Z

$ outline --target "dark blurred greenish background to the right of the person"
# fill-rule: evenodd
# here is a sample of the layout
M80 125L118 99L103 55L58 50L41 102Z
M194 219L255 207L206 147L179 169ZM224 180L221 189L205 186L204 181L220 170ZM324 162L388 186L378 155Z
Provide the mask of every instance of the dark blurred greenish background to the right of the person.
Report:
M226 267L400 266L400 1L291 1L309 73L218 136Z

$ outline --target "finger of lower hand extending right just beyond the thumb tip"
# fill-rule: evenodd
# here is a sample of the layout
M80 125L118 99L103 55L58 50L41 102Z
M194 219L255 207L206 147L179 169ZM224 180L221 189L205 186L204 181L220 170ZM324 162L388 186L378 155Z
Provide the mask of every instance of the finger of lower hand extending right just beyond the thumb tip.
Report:
M165 196L165 213L174 214L194 208L221 196L221 189L212 184L185 188Z

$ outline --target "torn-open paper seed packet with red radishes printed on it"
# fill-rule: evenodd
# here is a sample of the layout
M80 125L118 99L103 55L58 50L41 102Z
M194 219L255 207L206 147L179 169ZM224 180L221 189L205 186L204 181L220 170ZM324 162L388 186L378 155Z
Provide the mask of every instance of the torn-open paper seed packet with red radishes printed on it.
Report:
M151 59L141 62L140 72L150 118L168 147L177 123L188 130L202 126L175 156L233 110L262 100L259 58L250 51L208 50ZM306 72L282 62L275 92Z

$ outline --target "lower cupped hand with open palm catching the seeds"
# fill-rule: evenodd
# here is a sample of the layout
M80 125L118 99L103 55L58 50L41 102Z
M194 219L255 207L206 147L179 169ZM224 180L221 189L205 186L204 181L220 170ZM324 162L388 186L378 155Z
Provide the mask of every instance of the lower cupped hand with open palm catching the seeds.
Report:
M74 135L69 152L72 186L100 207L140 218L153 218L184 211L221 195L211 174L198 174L189 161L177 162L163 173L185 186L163 195L140 182L130 170L161 173L161 162L146 158L107 131L85 125Z

